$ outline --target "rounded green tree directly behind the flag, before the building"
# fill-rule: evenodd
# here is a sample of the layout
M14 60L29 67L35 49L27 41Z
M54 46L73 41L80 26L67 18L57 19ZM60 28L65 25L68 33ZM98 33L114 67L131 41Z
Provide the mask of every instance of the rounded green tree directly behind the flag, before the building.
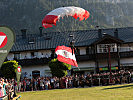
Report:
M60 62L58 61L58 59L52 59L49 62L49 67L50 67L52 76L56 76L59 78L66 76L68 74L67 70L71 69L71 65Z

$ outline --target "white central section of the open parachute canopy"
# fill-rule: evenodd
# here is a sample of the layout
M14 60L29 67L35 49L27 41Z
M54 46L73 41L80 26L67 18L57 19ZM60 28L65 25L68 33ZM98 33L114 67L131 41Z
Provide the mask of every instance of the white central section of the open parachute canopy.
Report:
M70 6L70 7L60 7L57 8L51 12L49 12L47 15L55 15L55 16L59 16L59 17L64 17L66 16L73 16L74 14L84 14L85 10L83 8L80 7L74 7L74 6ZM58 17L58 18L59 18Z

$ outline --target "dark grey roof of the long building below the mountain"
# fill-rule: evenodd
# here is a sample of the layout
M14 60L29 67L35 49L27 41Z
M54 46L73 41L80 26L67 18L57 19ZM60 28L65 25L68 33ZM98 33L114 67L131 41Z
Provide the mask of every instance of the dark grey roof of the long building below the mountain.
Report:
M114 36L116 28L102 29L102 33ZM117 28L118 37L124 43L133 42L133 27ZM69 45L72 40L69 35L74 34L75 46L89 46L98 38L98 30L78 30L68 32L49 32L38 34L27 34L26 38L22 35L16 36L16 42L11 49L11 52L30 51L30 50L46 50L54 49L58 45Z

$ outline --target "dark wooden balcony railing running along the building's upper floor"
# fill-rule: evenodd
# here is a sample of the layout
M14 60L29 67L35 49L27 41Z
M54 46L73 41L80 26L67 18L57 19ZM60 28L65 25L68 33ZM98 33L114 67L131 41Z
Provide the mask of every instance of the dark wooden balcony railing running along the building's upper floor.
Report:
M129 58L133 57L133 51L128 51L128 52L120 52L120 58ZM117 58L118 54L117 52L111 52L110 53L111 58ZM97 53L95 54L87 54L87 55L76 55L77 61L88 61L88 60L95 60L97 59L106 59L108 58L109 55L108 53ZM56 57L55 57L56 58ZM17 62L19 62L20 65L22 66L31 66L31 65L44 65L47 64L50 60L51 57L47 58L25 58L25 59L14 59ZM7 59L5 61L8 61Z

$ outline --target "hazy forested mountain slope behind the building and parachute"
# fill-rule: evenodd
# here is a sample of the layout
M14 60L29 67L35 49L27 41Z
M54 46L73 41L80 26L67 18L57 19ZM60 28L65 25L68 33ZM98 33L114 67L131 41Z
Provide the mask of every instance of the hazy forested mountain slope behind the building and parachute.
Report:
M51 10L62 6L78 6L91 14L86 21L65 17L57 26L44 29L48 31L84 30L100 26L101 28L132 27L133 2L97 2L98 0L1 0L0 25L7 25L21 34L20 29L28 33L38 33L43 17Z

